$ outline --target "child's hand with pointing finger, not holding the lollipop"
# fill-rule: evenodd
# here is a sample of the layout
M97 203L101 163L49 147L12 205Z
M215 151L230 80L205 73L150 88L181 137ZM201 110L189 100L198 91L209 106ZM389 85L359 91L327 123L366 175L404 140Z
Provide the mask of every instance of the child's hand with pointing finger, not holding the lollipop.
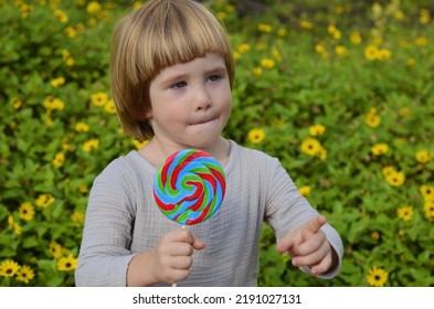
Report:
M336 253L320 230L327 219L319 215L308 221L299 228L286 234L277 244L276 249L288 253L293 265L307 266L313 275L330 271L336 266Z

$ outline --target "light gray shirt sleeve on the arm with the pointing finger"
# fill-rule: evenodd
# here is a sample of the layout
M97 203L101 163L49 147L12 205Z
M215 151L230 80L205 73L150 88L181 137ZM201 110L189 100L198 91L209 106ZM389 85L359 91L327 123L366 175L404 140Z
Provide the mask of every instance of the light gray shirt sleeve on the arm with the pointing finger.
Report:
M265 221L276 233L277 242L287 233L298 228L309 220L316 217L318 212L298 192L286 170L277 159L272 159L267 170L268 173L268 195L266 201ZM272 167L272 168L271 168ZM319 275L321 278L335 277L341 267L343 255L342 241L338 232L328 223L321 227L328 242L337 253L339 263L332 271ZM310 273L309 268L303 267L303 271Z

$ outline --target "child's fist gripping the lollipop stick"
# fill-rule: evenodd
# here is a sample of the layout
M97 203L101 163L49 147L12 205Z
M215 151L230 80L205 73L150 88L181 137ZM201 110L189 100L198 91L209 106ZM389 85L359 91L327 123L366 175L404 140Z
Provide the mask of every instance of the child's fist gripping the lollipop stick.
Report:
M165 234L154 252L154 276L157 281L174 284L188 278L193 252L204 247L205 243L186 228Z

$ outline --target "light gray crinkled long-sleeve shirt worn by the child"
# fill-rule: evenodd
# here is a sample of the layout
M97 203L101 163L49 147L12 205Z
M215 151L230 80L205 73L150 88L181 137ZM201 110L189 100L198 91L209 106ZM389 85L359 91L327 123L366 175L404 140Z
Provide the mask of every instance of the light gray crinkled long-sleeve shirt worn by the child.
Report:
M75 270L77 286L126 286L128 264L179 228L158 209L152 193L157 169L138 151L114 160L95 179ZM194 252L191 275L178 286L256 286L262 223L277 239L318 215L277 159L231 141L226 193L208 221L188 226L207 247ZM321 227L339 256L342 243L328 224Z

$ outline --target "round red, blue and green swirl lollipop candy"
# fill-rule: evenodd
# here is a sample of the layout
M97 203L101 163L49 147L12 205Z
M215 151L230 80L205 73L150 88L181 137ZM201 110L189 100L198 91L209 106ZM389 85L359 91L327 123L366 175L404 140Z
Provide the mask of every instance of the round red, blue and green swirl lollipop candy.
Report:
M154 196L160 211L182 225L210 219L225 192L220 163L202 150L184 149L171 154L158 169Z

